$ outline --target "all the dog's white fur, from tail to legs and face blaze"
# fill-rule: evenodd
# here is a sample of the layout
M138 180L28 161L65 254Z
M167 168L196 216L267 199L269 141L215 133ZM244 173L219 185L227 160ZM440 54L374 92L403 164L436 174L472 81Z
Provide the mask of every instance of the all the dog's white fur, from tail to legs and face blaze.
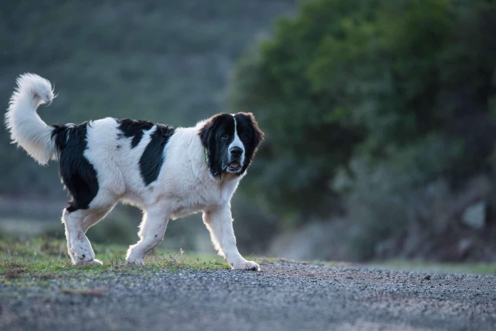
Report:
M13 142L41 164L57 157L50 136L53 128L36 114L38 105L52 99L53 91L47 80L33 74L22 75L5 116ZM176 129L164 149L165 161L159 177L149 185L141 178L139 159L156 126L144 131L139 144L131 148L132 138L117 139L120 130L114 118L90 123L84 156L97 172L98 193L89 209L72 213L64 209L62 213L68 252L74 264L101 264L95 259L85 232L121 201L143 210L140 240L129 247L127 262L143 263L148 252L163 240L170 218L202 212L219 254L234 269L259 270L258 264L245 260L238 252L232 226L230 200L244 174L225 173L220 177L210 174L198 137L204 123ZM240 140L237 133L236 138ZM240 147L244 150L242 143Z

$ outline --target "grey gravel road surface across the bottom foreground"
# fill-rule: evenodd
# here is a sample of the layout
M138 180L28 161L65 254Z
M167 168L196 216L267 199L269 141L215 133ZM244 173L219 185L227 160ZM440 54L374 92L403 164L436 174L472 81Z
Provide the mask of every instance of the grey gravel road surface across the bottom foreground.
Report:
M496 276L261 268L7 282L0 330L496 330Z

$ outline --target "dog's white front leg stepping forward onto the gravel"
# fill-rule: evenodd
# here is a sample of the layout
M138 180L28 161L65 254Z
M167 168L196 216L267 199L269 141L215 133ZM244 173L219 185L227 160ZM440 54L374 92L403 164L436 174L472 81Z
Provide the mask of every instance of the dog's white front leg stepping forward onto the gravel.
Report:
M214 248L226 258L233 269L260 270L258 264L243 258L236 247L230 204L204 211L203 222L210 231Z

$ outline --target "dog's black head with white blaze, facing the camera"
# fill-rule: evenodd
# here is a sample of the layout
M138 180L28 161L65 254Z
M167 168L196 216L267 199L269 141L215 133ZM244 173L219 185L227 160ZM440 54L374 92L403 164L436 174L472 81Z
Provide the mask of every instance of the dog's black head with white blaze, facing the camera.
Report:
M243 174L263 140L263 132L250 112L212 116L205 121L198 135L207 151L213 176L223 172Z

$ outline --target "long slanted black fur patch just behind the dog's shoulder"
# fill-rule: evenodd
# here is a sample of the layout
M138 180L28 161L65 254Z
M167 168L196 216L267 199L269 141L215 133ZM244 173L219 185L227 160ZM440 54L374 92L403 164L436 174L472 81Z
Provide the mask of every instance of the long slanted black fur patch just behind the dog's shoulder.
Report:
M146 145L143 155L139 159L139 170L146 185L155 181L164 163L164 148L169 138L176 130L172 126L156 124L156 130L150 135L150 142Z

